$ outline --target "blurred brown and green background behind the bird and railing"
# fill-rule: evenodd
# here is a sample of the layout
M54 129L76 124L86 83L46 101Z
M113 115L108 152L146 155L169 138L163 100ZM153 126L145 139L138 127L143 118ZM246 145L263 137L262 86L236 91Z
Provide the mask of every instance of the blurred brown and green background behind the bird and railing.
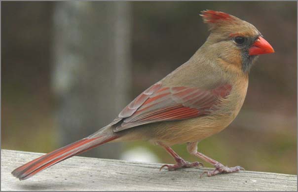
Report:
M294 1L2 1L1 148L48 153L110 123L204 43L204 9L254 24L275 53L260 56L239 115L199 151L228 166L297 174ZM198 160L186 145L173 149ZM82 156L175 162L146 142L105 145Z

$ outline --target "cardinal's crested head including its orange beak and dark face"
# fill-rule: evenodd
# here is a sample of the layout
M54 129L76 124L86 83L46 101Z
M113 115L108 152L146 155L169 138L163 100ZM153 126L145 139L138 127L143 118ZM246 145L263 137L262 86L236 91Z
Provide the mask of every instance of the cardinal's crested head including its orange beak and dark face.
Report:
M220 11L201 13L211 32L205 44L220 61L249 72L258 55L274 52L252 24Z

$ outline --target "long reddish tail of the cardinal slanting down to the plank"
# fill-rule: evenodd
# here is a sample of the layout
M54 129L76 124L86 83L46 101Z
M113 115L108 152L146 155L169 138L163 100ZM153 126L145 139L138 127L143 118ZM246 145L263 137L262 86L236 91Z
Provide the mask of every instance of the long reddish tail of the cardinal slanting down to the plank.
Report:
M91 135L93 136L93 135ZM44 154L37 159L34 159L18 168L13 170L11 174L20 180L28 179L40 171L60 162L67 158L70 158L76 154L81 154L92 148L105 144L109 141L118 138L116 135L99 135L97 137L87 137L74 142L70 145L62 147L58 150Z

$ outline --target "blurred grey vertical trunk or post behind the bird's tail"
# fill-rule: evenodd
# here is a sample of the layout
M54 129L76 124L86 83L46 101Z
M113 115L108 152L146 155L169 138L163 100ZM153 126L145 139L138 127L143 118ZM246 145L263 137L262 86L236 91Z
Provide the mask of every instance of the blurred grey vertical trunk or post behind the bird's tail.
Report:
M97 131L129 103L130 8L129 2L56 2L52 85L59 145ZM84 156L119 158L120 146Z

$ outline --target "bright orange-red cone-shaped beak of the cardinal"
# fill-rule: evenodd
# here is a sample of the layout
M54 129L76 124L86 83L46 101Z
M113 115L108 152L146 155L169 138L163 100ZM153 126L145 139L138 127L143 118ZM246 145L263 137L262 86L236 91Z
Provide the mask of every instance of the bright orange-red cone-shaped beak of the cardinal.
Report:
M274 53L274 49L261 36L254 42L253 46L249 48L249 55L261 55L267 53Z

